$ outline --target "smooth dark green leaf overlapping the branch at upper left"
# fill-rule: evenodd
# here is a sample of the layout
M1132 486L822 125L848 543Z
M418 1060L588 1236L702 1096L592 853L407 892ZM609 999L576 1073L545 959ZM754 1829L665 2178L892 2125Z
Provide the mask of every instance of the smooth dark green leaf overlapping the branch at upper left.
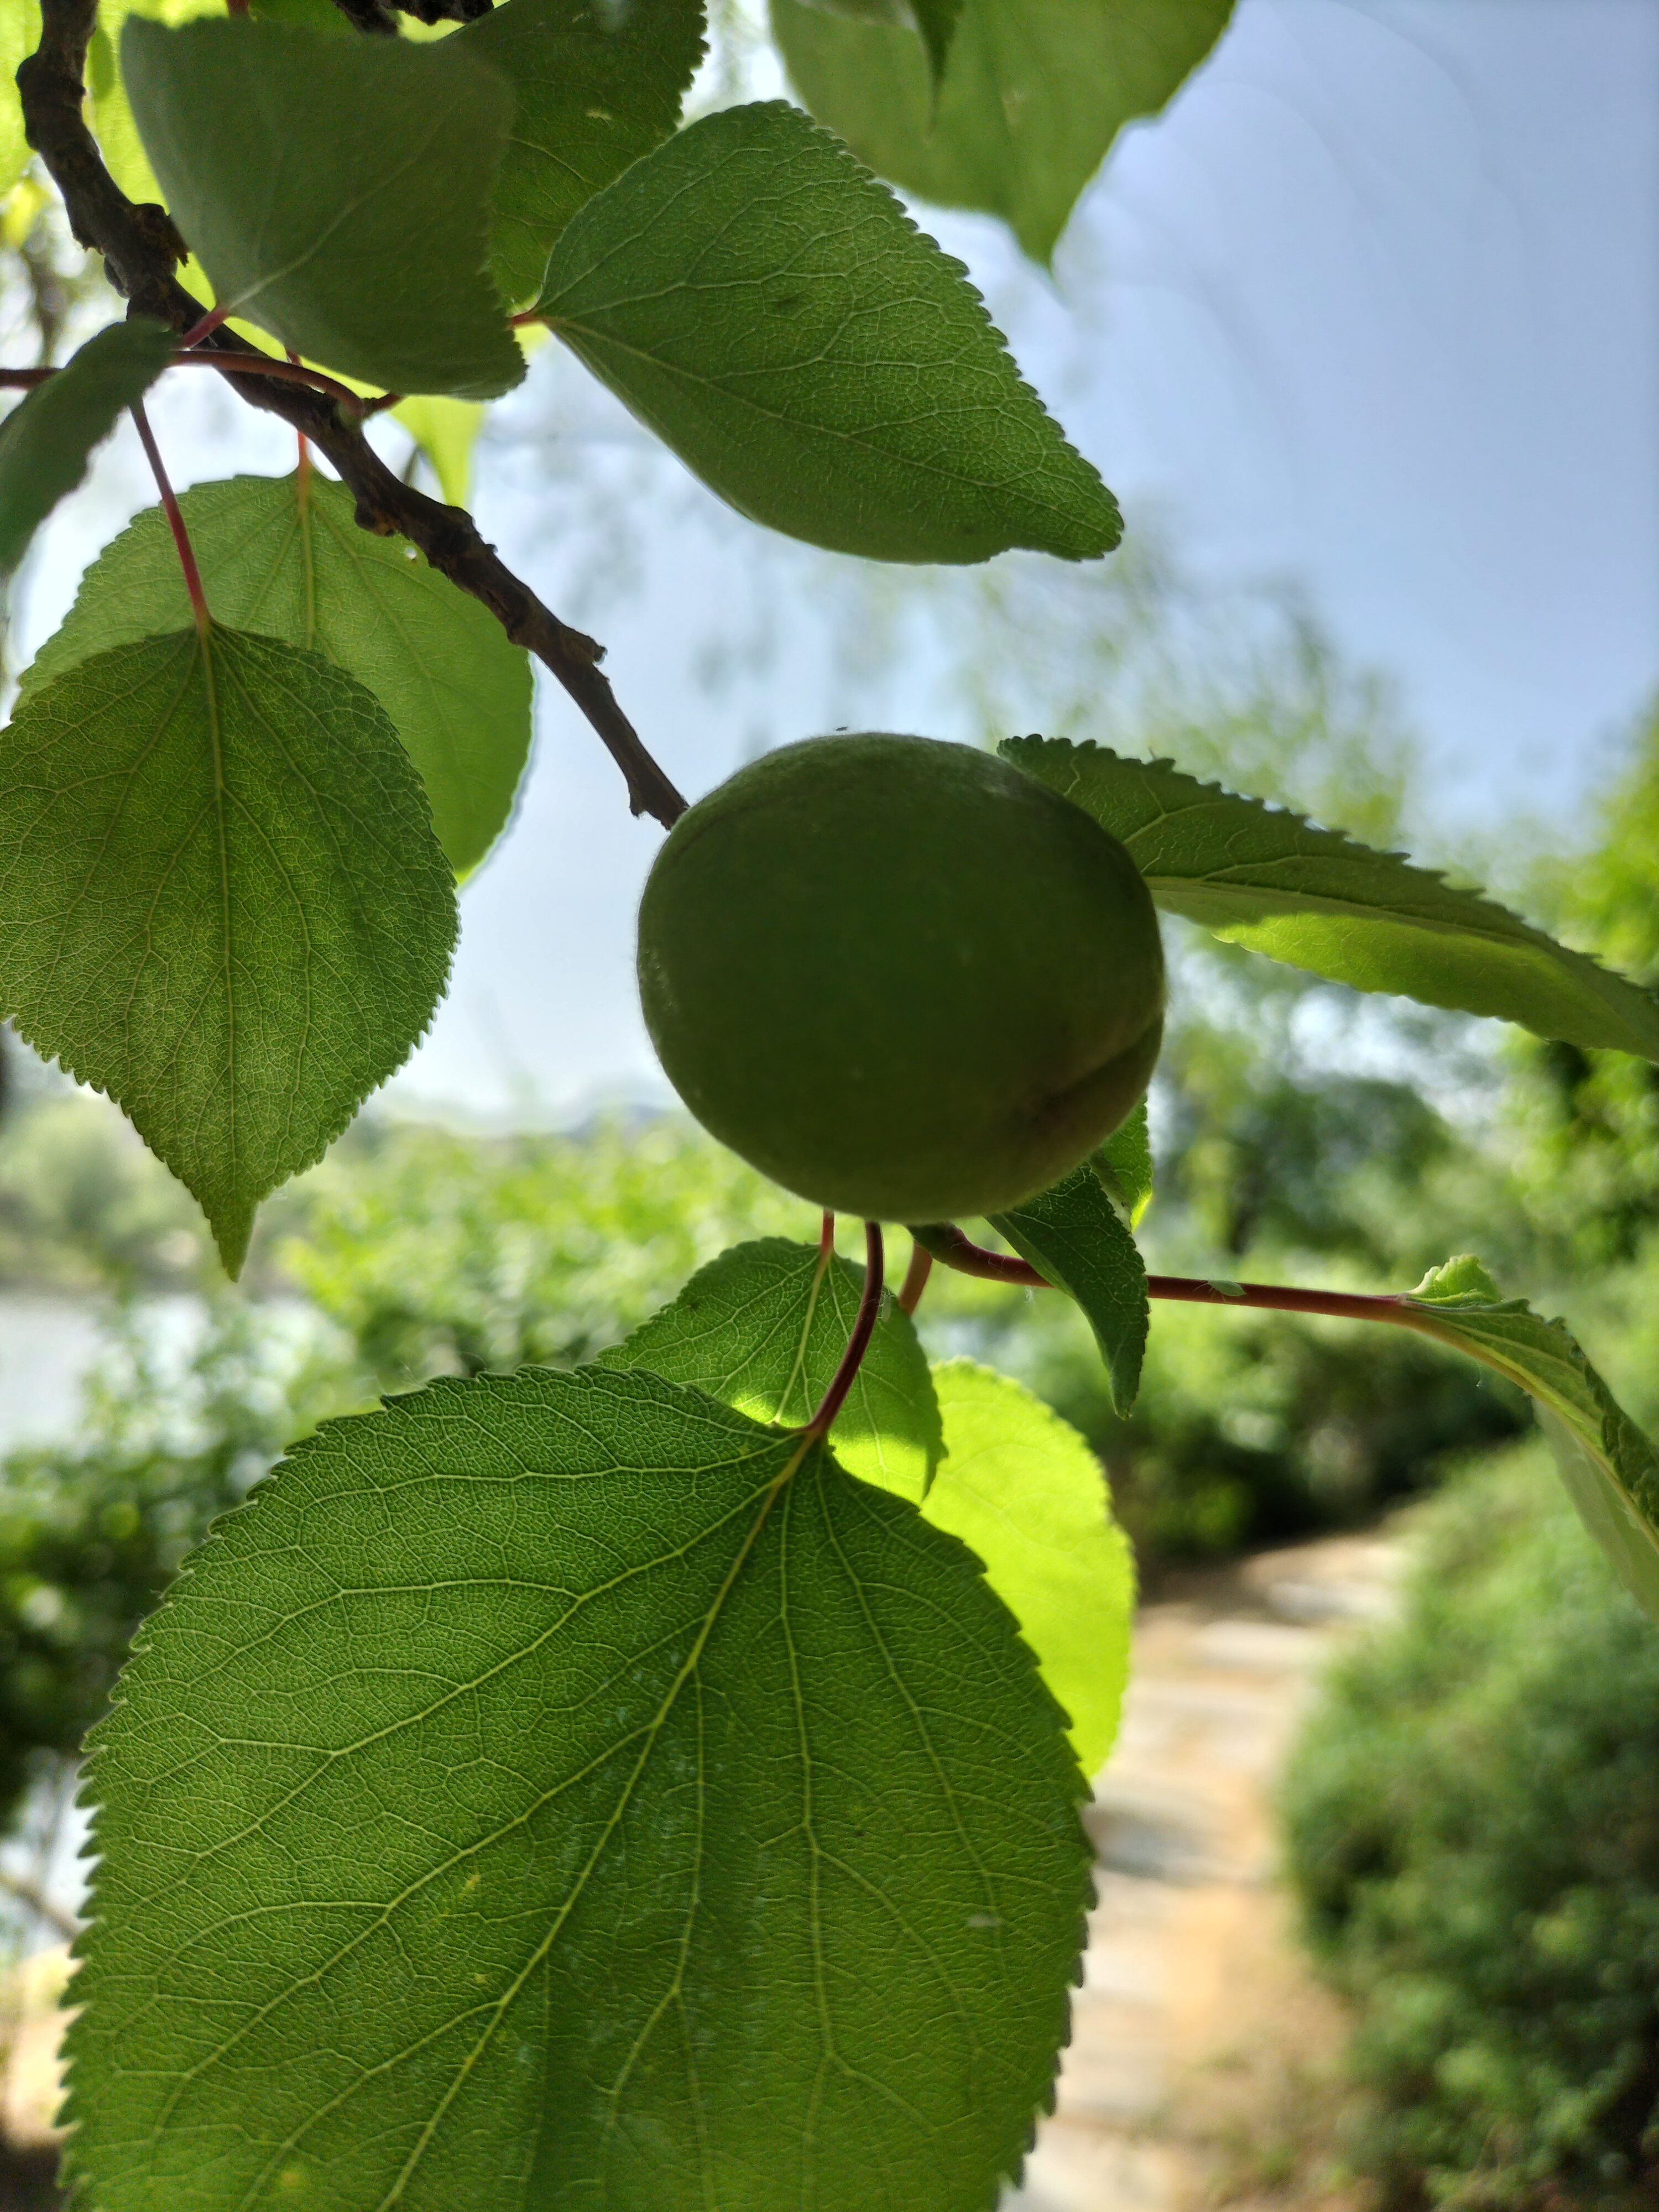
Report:
M440 46L223 18L122 31L168 210L219 305L394 392L524 374L489 252L511 88Z

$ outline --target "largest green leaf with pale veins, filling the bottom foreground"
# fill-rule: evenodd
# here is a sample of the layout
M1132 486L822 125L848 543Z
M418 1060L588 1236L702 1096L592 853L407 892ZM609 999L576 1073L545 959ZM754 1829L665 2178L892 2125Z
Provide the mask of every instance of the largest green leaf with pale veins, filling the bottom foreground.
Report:
M88 1770L100 2212L989 2212L1082 1776L953 1537L650 1374L301 1444Z

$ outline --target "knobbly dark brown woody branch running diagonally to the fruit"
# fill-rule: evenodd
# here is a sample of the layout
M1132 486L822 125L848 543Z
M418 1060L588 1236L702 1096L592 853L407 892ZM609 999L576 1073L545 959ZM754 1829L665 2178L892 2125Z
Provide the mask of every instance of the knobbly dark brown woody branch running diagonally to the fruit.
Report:
M104 272L128 301L128 312L155 316L184 334L201 321L201 301L173 274L186 259L186 243L166 208L135 206L122 192L82 115L97 0L42 0L40 18L40 46L18 71L29 144L64 197L69 228L104 257ZM215 330L201 352L239 356L232 374L237 392L281 416L327 456L356 500L358 524L380 538L407 538L451 584L487 606L515 646L557 677L622 770L635 814L653 814L670 827L686 812L686 801L646 752L599 670L604 646L542 606L478 535L465 509L445 507L400 482L327 394L283 383L276 374L250 374L243 363L261 358L259 349L234 332Z

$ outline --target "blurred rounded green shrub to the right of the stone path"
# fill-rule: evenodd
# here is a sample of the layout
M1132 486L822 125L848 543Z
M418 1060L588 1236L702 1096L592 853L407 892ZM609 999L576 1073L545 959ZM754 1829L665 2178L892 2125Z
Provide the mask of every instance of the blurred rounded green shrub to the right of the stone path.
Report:
M1283 1812L1385 2201L1659 2201L1659 1635L1542 1447L1425 1509Z

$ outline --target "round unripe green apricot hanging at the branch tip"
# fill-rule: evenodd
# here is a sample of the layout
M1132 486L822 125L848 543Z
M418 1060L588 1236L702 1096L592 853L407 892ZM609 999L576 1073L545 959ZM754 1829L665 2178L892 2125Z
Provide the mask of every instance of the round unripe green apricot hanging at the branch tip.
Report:
M684 814L639 907L639 998L697 1119L880 1221L1046 1190L1146 1091L1164 949L1082 807L971 745L825 737Z

